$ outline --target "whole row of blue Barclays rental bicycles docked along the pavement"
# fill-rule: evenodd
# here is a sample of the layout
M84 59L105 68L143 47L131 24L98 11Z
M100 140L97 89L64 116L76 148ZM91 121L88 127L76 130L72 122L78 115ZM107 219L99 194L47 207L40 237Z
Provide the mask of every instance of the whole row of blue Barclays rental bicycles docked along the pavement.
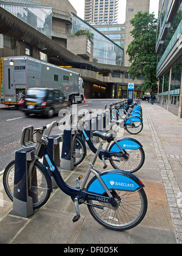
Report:
M115 127L123 127L132 134L137 134L143 129L142 108L138 102L127 105L126 101L121 101L110 106L110 110L112 110L110 122L115 124ZM83 126L87 114L90 112L81 116ZM144 184L132 174L143 166L145 155L142 144L135 138L116 138L115 130L112 132L96 130L93 132L93 137L99 138L99 143L95 147L87 135L87 130L78 129L73 135L70 149L74 166L78 166L86 157L86 143L94 153L94 157L92 162L88 163L85 177L79 176L75 187L70 187L62 178L61 171L47 146L50 133L56 126L59 126L59 122L53 121L38 129L25 127L22 131L21 145L25 144L24 140L27 137L24 131L31 133L28 137L33 155L28 164L27 184L33 208L38 209L48 201L53 191L51 179L53 177L58 187L69 195L75 204L76 215L73 222L80 218L79 205L86 204L93 218L107 229L123 231L137 226L147 212ZM105 148L103 144L106 144ZM98 158L103 161L104 170L95 168ZM106 169L108 160L113 169ZM92 174L91 178L90 174ZM15 160L7 165L3 176L5 192L12 201L13 193L19 190L19 184L15 184L14 179Z

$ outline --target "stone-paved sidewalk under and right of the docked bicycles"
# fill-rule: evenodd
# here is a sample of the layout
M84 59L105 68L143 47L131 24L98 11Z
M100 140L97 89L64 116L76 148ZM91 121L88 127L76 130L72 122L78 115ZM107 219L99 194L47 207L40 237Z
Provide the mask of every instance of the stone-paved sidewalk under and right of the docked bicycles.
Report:
M125 232L105 229L90 216L86 205L80 205L81 218L73 223L75 206L59 189L53 191L47 204L35 215L22 218L13 213L12 202L3 194L4 201L0 198L0 243L95 246L182 243L182 119L156 104L142 102L141 106L142 132L130 135L124 131L124 137L136 138L143 144L146 154L143 167L135 172L146 186L148 199L146 216L138 226ZM89 152L89 158L92 157ZM64 180L75 186L76 178L86 173L88 164L86 158L74 171L62 170ZM98 160L96 168L103 169L103 162Z

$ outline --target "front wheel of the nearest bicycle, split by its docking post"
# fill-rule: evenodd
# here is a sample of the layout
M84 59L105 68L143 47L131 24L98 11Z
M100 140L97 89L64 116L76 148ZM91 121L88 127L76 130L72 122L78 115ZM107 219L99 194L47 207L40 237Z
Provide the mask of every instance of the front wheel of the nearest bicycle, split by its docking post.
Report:
M7 165L3 174L4 190L11 201L13 201L14 177L15 160ZM33 208L40 208L49 199L51 189L48 175L45 174L44 170L36 162L28 183L28 193L32 197Z

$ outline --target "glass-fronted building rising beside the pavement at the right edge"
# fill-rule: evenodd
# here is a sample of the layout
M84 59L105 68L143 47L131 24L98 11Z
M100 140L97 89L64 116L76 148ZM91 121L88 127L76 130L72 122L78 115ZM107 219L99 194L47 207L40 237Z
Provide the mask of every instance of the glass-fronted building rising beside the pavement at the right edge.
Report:
M180 49L181 46L178 46L177 42L180 41L178 39L181 32L182 0L161 1L157 29L157 73L160 74L158 104L176 115L179 113L178 107L180 106L182 57L178 54L177 59L177 56L173 54L174 63L170 62L172 63L170 65L167 65L167 58L172 54L174 47Z

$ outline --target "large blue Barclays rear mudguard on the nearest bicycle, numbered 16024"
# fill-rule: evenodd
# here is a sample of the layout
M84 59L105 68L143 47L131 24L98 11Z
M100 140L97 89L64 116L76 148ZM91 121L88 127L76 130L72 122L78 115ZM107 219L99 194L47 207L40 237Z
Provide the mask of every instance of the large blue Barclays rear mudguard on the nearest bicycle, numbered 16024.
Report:
M130 172L122 170L107 170L99 173L108 190L132 191L140 190L144 187L141 180ZM103 195L106 193L98 178L93 177L87 185L86 190L90 193Z

